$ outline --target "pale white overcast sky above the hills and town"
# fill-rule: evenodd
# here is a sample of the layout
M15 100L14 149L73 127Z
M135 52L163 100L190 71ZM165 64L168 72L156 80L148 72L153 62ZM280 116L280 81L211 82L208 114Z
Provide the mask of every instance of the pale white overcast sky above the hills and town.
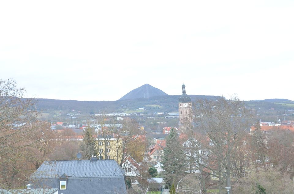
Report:
M28 97L294 100L294 1L1 1L0 78Z

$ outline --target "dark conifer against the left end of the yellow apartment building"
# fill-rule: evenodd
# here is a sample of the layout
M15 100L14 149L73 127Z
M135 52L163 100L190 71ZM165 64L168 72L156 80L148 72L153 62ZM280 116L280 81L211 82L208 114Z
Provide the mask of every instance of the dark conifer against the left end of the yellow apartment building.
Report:
M85 128L83 135L83 142L81 143L80 149L82 151L82 156L85 160L89 160L91 156L97 156L98 148L96 142L96 133L93 128L88 126Z

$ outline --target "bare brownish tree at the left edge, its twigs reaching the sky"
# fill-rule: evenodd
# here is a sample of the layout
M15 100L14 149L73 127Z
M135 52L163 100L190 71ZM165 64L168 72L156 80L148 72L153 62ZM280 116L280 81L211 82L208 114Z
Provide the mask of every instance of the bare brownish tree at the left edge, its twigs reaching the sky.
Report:
M50 125L36 121L35 100L13 80L0 79L0 187L25 184L32 171L53 149Z

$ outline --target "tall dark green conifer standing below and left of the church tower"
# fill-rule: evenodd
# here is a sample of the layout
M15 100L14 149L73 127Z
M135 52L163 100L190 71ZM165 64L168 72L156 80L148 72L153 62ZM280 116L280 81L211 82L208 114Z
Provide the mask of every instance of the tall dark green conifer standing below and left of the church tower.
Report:
M170 134L166 140L164 148L163 169L165 183L171 187L172 183L178 183L179 178L185 174L183 171L185 156L183 154L182 145L174 128L171 128Z

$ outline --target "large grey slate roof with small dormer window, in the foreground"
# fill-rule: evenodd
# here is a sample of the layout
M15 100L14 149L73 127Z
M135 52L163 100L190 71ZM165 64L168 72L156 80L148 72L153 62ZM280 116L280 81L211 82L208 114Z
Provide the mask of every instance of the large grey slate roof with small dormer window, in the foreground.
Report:
M34 188L60 188L66 180L66 190L60 193L126 193L123 168L115 160L45 161L31 175Z

